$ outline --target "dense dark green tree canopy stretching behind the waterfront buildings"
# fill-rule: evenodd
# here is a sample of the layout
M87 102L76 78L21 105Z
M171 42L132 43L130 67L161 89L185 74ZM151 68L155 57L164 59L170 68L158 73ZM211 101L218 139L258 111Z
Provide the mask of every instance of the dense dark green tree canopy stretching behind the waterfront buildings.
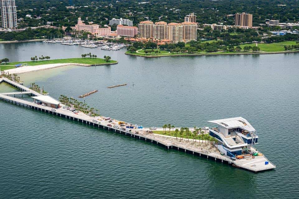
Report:
M136 25L145 17L149 20L164 20L169 22L182 22L183 16L190 12L197 14L197 22L216 23L222 22L224 25L233 25L234 18L227 16L236 12L248 12L253 14L253 25L264 23L265 19L280 20L281 22L295 22L299 20L297 0L230 0L230 1L181 1L176 0L155 0L145 4L138 4L135 0L126 1L93 1L80 0L73 1L74 9L67 9L68 0L18 0L18 17L24 18L19 22L20 27L46 25L51 21L57 26L73 26L81 16L85 22L93 21L99 25L109 23L112 17L122 17L133 20ZM278 6L285 4L286 6ZM88 6L88 7L81 7ZM32 9L34 8L34 9ZM29 10L32 9L32 10ZM170 10L174 9L174 10ZM26 18L30 14L32 18ZM37 19L40 16L41 19ZM86 17L88 19L86 20ZM206 28L208 29L208 28Z

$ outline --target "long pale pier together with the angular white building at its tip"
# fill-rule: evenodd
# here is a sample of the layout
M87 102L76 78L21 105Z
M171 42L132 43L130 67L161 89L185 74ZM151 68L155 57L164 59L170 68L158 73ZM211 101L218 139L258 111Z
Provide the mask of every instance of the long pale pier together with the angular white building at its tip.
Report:
M13 92L0 93L1 100L4 100L9 103L13 103L15 105L47 112L49 114L56 115L59 117L65 117L66 119L69 120L76 120L78 123L83 123L86 125L95 126L97 128L102 128L102 129L107 129L109 131L122 133L124 135L145 140L146 142L154 142L156 144L166 147L167 149L175 148L177 150L181 150L186 153L191 153L193 155L204 156L207 159L212 159L215 161L219 161L221 163L227 163L237 168L243 168L253 172L271 170L276 168L276 166L272 164L270 161L268 161L268 159L263 154L261 154L259 151L256 150L256 148L254 147L258 138L256 135L256 131L247 122L247 120L241 117L230 118L225 120L209 121L211 123L215 123L219 125L218 131L215 128L209 129L209 134L212 137L217 138L220 141L218 143L222 143L222 144L216 144L216 143L211 143L206 141L198 142L198 141L191 141L186 139L177 139L174 137L151 133L147 128L136 128L136 127L134 128L134 126L128 122L125 123L127 125L126 128L120 128L117 125L118 121L111 119L110 117L109 119L107 119L108 117L104 117L104 116L91 117L86 114L83 114L82 112L74 113L72 111L67 110L66 106L64 106L59 101L55 100L54 98L48 95L43 96L40 93L37 93L7 78L0 78L0 83L1 82L5 82L21 90L21 92L16 92L16 93ZM14 97L9 96L12 94L14 95ZM15 97L16 95L24 95L24 94L31 96L31 98L34 99L34 102ZM235 121L237 120L238 121L240 120L240 122L236 123ZM229 121L231 125L226 126L227 125L226 123L229 123ZM223 125L227 127L226 130L225 128L223 128ZM223 132L223 130L224 132L228 132L228 129L236 129L236 128L238 128L238 132L235 131L235 134L231 133L230 138L225 138L224 134L220 135L219 133L219 132ZM243 138L243 136L240 135L239 133L240 129L243 129L244 131L248 131L249 135L252 136L251 138L250 136L248 136L248 134L245 134L246 138L248 138L247 143L238 140L239 137ZM233 131L230 130L230 132ZM234 139L232 138L232 136L235 136L235 140L238 140L238 143L236 142L234 142L236 144L233 143ZM237 138L237 136L239 137ZM254 141L253 138L255 139ZM235 145L237 145L238 148L237 150L234 149L231 151L230 149L228 149L230 147L235 148ZM242 147L241 152L239 150L240 147ZM248 153L249 151L250 153ZM247 152L250 155L250 158L247 158L248 155L246 156L246 158L245 157L239 158L237 156L237 155L242 156L244 152ZM255 156L254 154L261 154L261 155Z

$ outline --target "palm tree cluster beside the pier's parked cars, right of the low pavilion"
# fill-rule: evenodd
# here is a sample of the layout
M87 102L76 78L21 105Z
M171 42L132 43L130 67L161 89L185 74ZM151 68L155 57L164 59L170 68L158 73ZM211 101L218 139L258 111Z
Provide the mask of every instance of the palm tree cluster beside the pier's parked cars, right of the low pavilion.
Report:
M92 116L99 116L99 110L92 108L88 106L85 102L80 102L77 99L74 99L73 97L67 97L64 95L60 95L59 101L67 106L74 107L75 109L78 109L79 111L90 114Z

